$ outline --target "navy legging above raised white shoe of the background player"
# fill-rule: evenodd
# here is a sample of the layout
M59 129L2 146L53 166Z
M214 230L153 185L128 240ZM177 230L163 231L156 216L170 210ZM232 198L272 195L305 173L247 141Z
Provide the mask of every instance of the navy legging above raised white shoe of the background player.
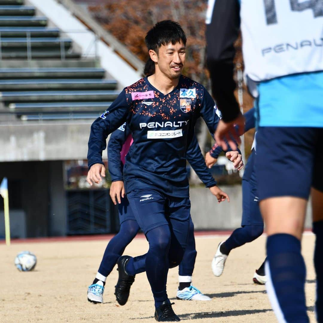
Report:
M228 255L232 249L254 241L263 231L264 227L262 225L244 225L241 228L235 229L224 244L221 245L221 247L224 245L224 254ZM222 250L220 251L222 252Z

